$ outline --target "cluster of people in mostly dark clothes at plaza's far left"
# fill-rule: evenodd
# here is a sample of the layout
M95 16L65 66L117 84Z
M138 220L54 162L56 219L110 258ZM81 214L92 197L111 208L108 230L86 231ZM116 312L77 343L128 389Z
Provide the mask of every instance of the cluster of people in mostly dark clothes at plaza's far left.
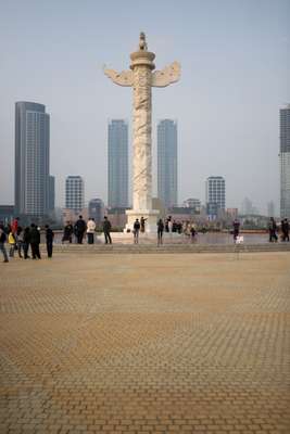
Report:
M48 257L52 257L54 233L49 225L45 226L46 245ZM5 244L9 245L9 253ZM20 218L16 217L11 225L4 226L0 224L0 251L3 254L4 263L9 263L9 258L13 258L15 252L20 258L24 259L41 259L40 255L40 228L35 224L23 228L20 225Z

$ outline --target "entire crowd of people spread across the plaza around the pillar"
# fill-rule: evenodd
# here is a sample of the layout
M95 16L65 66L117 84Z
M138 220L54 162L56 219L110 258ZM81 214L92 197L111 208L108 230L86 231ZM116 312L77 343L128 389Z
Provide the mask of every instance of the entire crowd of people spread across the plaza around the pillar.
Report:
M146 221L147 219L141 217L140 220L137 218L134 222L133 227L133 235L134 243L139 243L139 233L146 232ZM104 243L112 244L111 238L111 222L106 216L102 221L102 231L104 234ZM191 241L194 241L196 235L198 233L197 227L191 221L177 222L173 220L171 216L168 216L165 220L159 219L156 222L156 232L157 232L157 245L163 244L163 232L177 232L179 234L187 235ZM86 222L83 216L79 216L76 222L73 225L71 221L66 221L66 225L63 228L62 243L73 243L75 241L77 244L83 244L85 235L87 235L88 244L94 243L97 226L93 218L89 218ZM202 231L205 231L205 228L202 228ZM17 252L20 258L24 259L41 259L40 254L40 231L41 228L37 227L35 224L23 228L20 225L20 218L16 217L12 224L8 224L4 226L2 222L0 224L0 251L3 254L4 263L9 263L9 257L13 258L15 252ZM268 225L268 234L269 242L278 241L278 227L274 219L270 217ZM238 219L235 219L232 222L232 235L234 242L239 243L242 241L242 237L240 237L240 222ZM45 237L46 237L46 246L47 246L47 256L48 258L52 257L53 252L53 239L54 233L49 225L45 226ZM289 242L289 222L288 219L285 218L280 222L280 240L282 242ZM9 254L5 248L5 244L9 245Z

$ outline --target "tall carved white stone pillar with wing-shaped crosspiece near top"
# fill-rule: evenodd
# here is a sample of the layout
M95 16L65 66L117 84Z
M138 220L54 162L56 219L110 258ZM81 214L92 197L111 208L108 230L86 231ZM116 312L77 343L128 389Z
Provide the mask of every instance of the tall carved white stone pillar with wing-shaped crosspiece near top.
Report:
M166 87L179 79L180 65L174 62L162 71L153 63L155 54L147 50L146 36L140 34L139 50L130 55L130 71L117 73L104 69L104 74L119 86L134 89L133 106L133 209L128 209L127 229L135 220L146 219L146 232L156 232L159 210L152 209L152 102L151 88Z

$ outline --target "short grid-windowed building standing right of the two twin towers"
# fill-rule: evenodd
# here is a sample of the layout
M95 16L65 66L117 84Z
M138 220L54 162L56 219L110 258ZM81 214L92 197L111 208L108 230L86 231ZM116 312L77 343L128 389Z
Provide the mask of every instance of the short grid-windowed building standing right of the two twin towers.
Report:
M226 208L226 181L220 176L206 179L205 202L207 215L217 216L218 210Z

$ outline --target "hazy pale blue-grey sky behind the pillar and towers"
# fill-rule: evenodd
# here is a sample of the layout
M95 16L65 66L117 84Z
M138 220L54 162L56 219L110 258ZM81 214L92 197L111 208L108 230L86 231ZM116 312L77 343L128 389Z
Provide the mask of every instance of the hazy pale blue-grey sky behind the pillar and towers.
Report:
M181 63L178 84L153 89L154 157L156 122L178 122L179 203L204 201L206 177L220 175L228 207L248 196L278 209L289 23L290 0L0 0L0 203L14 202L16 101L51 116L56 204L67 175L84 176L86 201L106 202L108 120L131 129L133 94L102 66L127 69L144 31L156 68Z

